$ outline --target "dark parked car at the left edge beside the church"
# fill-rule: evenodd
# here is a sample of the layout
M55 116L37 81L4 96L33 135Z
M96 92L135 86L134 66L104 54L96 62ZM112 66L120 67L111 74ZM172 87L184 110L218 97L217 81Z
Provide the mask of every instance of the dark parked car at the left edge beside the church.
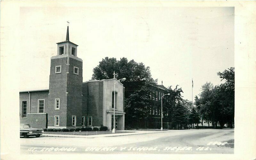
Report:
M28 138L29 136L40 137L44 133L44 129L31 128L29 124L20 124L20 136Z

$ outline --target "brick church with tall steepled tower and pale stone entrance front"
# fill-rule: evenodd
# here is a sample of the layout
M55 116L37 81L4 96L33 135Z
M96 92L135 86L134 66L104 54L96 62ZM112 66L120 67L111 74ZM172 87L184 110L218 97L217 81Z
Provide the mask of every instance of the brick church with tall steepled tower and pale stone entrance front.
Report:
M116 78L83 82L83 60L77 57L78 45L69 41L68 28L66 40L57 45L49 89L20 92L20 123L33 128L107 126L111 130L115 122L117 130L124 130L123 84Z

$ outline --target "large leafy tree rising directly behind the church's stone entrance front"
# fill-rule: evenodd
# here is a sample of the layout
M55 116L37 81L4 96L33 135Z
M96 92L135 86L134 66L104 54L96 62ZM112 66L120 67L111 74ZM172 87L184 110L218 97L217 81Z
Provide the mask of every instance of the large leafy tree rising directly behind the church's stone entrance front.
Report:
M112 79L114 72L117 80L126 78L126 81L122 82L125 87L125 123L129 126L141 127L149 115L148 93L156 87L157 80L151 77L149 67L143 63L137 63L133 59L128 61L124 57L120 60L108 57L102 59L99 65L93 69L92 80Z

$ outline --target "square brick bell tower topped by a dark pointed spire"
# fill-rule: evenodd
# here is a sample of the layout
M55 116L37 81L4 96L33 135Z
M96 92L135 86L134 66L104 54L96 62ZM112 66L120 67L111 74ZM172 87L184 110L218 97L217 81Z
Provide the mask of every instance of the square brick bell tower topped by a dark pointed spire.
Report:
M77 57L77 46L66 40L57 43L57 55L51 57L48 128L75 128L82 122L83 61ZM56 124L55 117L58 117Z

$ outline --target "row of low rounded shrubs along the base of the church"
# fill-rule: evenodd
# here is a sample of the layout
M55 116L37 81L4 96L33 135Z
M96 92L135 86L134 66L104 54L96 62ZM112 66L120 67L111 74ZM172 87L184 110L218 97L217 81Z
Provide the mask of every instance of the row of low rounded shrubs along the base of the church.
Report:
M91 127L86 127L86 128L76 128L76 129L66 129L66 128L63 128L63 129L53 129L53 128L48 128L48 129L44 129L44 131L47 131L47 132L74 132L74 131L76 131L76 132L79 132L79 131L106 131L106 130L108 130L108 127L106 127L106 126L102 126L102 127L100 127L100 129L99 128L97 128L97 127L94 127L93 129L91 128Z

